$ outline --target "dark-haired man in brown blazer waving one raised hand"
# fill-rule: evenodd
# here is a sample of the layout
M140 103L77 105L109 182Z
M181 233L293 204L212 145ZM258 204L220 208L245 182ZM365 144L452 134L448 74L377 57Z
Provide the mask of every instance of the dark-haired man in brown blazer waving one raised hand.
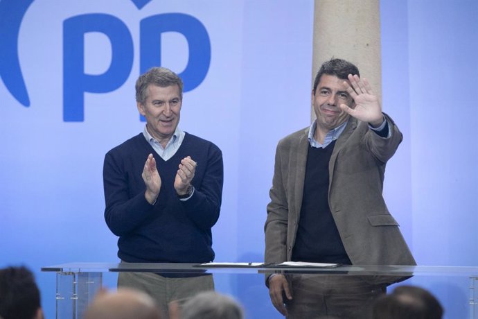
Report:
M385 166L402 134L359 76L344 60L322 64L312 89L317 120L278 143L266 263L415 265L382 197ZM267 277L274 307L289 318L369 318L370 300L391 283L357 276Z

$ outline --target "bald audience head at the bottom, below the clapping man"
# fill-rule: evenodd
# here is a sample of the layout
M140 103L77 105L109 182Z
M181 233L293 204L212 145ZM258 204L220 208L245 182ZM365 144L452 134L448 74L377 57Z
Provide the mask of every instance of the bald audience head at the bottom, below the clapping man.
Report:
M118 288L117 292L100 291L85 312L85 319L161 319L154 300L141 291Z

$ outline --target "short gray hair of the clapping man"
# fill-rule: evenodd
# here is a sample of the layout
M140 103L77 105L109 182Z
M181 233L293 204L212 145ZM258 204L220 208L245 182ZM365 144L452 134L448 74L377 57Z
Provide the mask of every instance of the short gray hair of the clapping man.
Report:
M158 87L169 87L177 85L179 87L179 97L183 98L183 81L177 74L166 67L152 67L139 76L136 80L136 102L144 104L148 98L148 87L157 85Z

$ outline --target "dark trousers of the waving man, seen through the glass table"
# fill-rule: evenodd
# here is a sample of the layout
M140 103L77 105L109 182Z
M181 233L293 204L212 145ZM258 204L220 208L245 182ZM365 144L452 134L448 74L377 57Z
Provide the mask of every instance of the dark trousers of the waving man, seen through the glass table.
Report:
M369 284L360 276L290 275L293 299L287 318L369 319L373 301L386 292L384 284Z

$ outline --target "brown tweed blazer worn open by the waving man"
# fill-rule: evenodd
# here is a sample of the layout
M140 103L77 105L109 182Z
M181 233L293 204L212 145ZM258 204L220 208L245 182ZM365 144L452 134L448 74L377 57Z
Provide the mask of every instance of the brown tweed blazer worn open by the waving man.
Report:
M382 197L387 161L402 133L385 114L391 137L351 117L330 158L328 203L354 265L415 265L414 257ZM281 139L265 223L265 262L290 261L306 175L309 128Z

